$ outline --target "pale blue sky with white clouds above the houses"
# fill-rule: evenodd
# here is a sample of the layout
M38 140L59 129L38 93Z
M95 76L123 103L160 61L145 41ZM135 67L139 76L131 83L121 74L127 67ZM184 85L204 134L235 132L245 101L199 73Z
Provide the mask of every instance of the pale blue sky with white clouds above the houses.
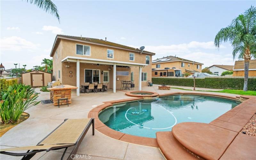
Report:
M153 60L177 56L204 63L234 65L232 46L214 38L256 1L53 1L60 23L27 1L0 1L0 62L26 69L51 58L57 34L105 39L155 52Z

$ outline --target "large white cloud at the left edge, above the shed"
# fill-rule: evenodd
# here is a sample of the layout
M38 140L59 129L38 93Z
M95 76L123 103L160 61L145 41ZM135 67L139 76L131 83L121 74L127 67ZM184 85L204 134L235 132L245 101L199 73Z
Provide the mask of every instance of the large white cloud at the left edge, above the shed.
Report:
M21 51L22 49L35 50L39 44L34 44L17 36L4 37L0 40L1 50Z

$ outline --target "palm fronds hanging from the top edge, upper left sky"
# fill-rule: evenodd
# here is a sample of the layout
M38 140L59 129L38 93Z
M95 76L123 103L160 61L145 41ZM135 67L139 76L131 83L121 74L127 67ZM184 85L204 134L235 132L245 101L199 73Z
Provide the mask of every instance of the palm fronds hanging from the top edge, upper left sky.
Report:
M52 14L60 22L60 16L57 6L51 0L27 0L27 2L28 1L30 2L30 4L35 4L38 8Z

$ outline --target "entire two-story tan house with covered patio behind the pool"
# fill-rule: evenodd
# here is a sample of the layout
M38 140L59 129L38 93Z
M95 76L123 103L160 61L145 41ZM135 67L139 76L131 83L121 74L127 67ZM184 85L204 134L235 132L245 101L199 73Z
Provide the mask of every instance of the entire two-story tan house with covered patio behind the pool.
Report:
M135 87L151 81L155 53L102 39L57 35L52 47L53 76L62 84L79 87L85 82L108 83L116 92L121 80L134 80Z

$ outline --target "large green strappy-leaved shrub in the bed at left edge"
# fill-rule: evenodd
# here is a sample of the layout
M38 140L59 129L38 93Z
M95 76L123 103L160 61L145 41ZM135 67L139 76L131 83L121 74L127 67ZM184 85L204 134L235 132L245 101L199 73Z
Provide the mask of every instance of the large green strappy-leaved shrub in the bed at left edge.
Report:
M35 92L30 85L14 84L2 91L0 101L0 116L3 123L15 123L19 121L20 115L28 108L37 105L39 93Z

